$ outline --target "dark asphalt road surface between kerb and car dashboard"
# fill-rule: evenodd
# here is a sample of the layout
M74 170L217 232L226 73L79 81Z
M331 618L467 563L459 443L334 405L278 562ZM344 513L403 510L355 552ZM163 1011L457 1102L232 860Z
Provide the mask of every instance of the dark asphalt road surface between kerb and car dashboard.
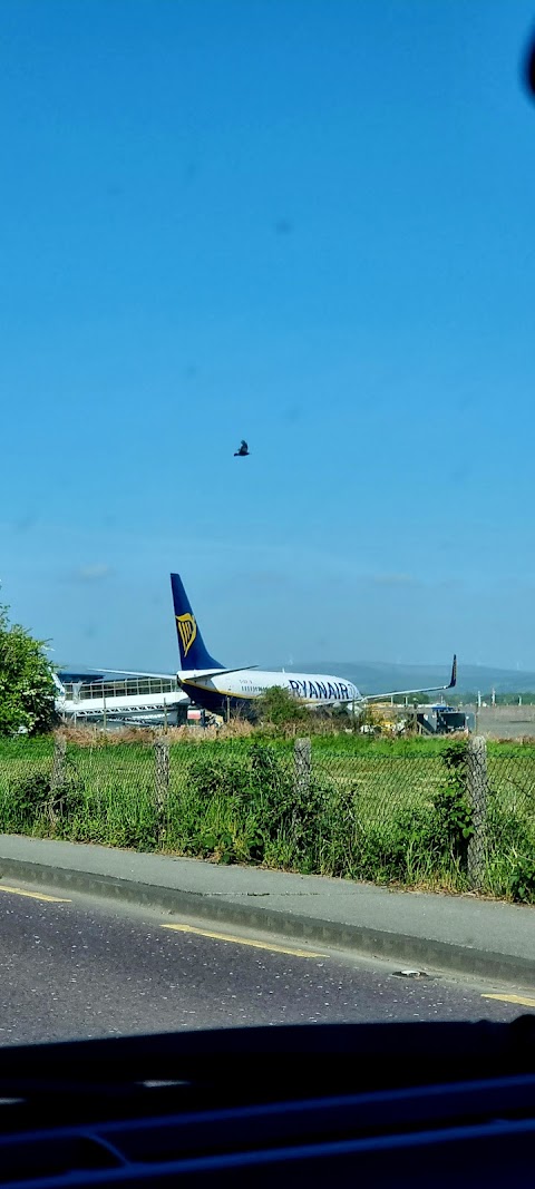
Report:
M207 936L206 921L197 930L157 912L39 894L0 887L0 1044L246 1024L509 1020L535 1009L535 994L511 1002L511 988L404 977L392 964L288 939L221 939L218 925Z

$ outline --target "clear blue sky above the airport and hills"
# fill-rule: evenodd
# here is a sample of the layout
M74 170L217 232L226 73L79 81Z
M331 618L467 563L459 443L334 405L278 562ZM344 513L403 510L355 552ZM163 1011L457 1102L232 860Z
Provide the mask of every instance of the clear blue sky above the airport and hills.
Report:
M535 668L534 0L1 0L0 598ZM248 459L234 459L241 436Z

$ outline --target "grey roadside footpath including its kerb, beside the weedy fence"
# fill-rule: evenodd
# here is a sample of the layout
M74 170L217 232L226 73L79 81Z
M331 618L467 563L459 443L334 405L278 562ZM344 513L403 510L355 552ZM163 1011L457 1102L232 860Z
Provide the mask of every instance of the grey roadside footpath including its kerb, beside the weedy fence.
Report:
M0 886L14 879L535 988L524 905L0 835Z

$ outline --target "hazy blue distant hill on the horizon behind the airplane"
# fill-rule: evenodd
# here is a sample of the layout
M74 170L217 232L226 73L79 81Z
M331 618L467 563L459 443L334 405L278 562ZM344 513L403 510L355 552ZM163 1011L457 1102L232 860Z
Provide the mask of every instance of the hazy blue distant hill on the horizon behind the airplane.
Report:
M287 673L334 673L354 681L361 693L421 690L449 681L449 669L438 665L389 665L384 661L303 661L287 666ZM535 691L535 673L459 662L459 693L477 693L478 690L490 693L492 686L496 693L531 692Z

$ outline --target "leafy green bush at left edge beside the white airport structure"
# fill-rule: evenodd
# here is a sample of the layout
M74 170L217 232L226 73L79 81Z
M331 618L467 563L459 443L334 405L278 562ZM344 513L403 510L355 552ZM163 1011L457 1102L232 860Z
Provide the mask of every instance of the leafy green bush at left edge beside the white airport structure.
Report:
M56 686L44 641L18 623L10 625L0 605L0 735L24 726L30 735L48 731L56 719Z

